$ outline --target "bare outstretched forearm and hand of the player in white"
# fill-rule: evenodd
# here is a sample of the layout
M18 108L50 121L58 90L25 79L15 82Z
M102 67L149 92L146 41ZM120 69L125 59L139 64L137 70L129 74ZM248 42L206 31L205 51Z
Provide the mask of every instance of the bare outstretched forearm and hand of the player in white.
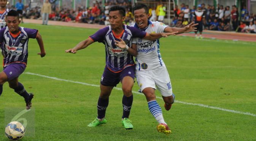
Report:
M171 27L167 27L167 28L164 29L164 32L165 33L177 32L176 34L188 33L188 32L191 32L191 31L195 32L195 31L197 31L196 30L197 28L195 27L197 25L198 25L198 23L195 24L195 22L192 22L189 25L185 26L184 28L176 28L176 27L171 28Z

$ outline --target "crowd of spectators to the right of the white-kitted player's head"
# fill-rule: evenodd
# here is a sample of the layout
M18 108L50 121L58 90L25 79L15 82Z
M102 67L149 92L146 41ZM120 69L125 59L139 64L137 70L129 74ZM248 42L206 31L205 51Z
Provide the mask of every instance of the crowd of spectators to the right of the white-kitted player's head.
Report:
M188 5L182 3L179 9L176 5L171 26L180 28L193 22L195 11L195 6L189 9ZM256 33L256 15L249 15L246 7L240 11L240 19L238 8L235 5L232 8L223 5L217 5L215 8L215 6L207 5L206 8L202 3L202 11L204 11L204 29Z

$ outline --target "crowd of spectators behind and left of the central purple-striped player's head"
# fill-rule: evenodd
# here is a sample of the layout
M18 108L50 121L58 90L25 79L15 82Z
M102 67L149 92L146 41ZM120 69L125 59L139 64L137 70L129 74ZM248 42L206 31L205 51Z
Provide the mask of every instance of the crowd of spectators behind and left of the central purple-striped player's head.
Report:
M100 25L109 25L108 22L108 9L111 5L120 5L126 8L126 21L127 24L134 23L132 14L132 5L130 2L119 1L112 3L107 2L105 6L102 6L101 2L95 1L93 6L85 8L85 6L80 6L77 10L70 8L58 8L52 5L52 11L49 14L49 20L63 21L63 22L80 22L80 23L96 23ZM29 9L28 6L25 7L24 17L27 19L41 19L41 8L35 7Z

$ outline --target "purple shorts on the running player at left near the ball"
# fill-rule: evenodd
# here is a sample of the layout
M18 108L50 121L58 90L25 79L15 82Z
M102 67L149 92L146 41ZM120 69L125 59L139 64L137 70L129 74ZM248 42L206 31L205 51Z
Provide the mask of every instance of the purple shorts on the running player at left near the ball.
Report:
M25 70L26 65L23 63L12 63L6 67L3 68L3 72L8 77L8 81L13 80L14 78L19 77Z

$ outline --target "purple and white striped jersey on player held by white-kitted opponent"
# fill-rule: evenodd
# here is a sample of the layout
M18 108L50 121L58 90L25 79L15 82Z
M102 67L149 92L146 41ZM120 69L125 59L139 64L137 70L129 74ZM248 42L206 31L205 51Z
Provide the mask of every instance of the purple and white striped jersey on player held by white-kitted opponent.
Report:
M119 72L126 67L134 65L134 59L125 49L121 49L114 44L114 40L118 40L120 37L126 45L132 46L132 38L143 38L146 36L146 32L137 28L123 25L122 34L115 35L111 30L111 26L107 26L98 30L95 34L90 36L94 42L101 42L105 45L106 50L106 65L114 72Z

